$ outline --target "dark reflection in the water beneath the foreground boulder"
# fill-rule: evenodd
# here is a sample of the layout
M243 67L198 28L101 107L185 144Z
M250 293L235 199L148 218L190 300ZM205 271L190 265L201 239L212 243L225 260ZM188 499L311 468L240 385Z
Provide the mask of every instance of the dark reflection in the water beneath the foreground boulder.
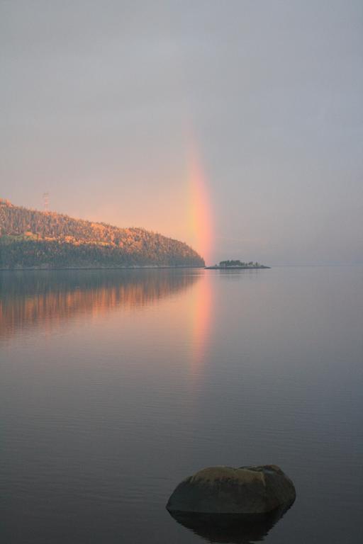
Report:
M207 542L253 544L264 540L286 510L277 509L269 514L169 514Z

